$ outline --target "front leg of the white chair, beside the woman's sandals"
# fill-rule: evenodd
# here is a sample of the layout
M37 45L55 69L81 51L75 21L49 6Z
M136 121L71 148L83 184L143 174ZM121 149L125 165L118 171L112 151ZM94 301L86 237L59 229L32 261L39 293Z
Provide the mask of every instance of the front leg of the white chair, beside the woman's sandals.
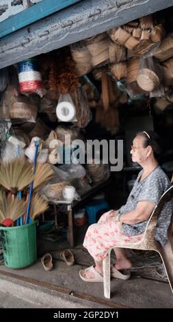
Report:
M111 293L111 251L107 253L105 258L103 259L103 288L104 288L104 296L107 299L110 299Z

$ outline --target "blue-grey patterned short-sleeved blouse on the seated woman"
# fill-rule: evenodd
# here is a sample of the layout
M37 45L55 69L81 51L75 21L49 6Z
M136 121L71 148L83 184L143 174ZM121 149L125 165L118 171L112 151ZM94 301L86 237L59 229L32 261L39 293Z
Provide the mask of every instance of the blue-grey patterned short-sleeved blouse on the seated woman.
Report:
M145 179L143 179L142 182L139 182L142 171L140 171L137 175L137 179L133 189L131 190L129 198L127 199L127 203L120 208L120 212L122 214L134 210L138 201L152 201L157 205L161 195L170 185L170 180L161 169L161 166L157 166L157 168L155 168ZM166 241L168 240L168 227L171 221L172 210L173 202L169 201L168 203L165 203L165 206L161 210L157 220L155 239L158 240L161 245L165 245ZM126 236L141 234L144 232L147 223L148 219L134 225L127 225L124 223L124 234Z

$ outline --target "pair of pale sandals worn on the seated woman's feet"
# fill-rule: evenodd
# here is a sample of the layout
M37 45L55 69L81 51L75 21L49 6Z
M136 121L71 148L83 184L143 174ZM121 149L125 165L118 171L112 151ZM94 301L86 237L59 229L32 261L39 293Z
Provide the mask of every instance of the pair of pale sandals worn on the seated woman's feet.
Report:
M93 278L85 277L85 271L90 271L94 275ZM79 276L81 280L85 282L103 282L103 275L99 274L95 269L94 265L88 267L88 269L81 269L79 271ZM114 266L111 266L111 277L119 278L120 280L129 280L131 273L129 271L118 271Z

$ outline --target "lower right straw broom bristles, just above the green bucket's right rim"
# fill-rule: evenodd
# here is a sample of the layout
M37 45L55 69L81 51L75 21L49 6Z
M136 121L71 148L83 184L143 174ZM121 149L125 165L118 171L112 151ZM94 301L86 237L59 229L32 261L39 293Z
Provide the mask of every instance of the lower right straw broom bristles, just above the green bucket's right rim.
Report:
M38 195L38 193L32 196L31 209L30 209L32 219L35 219L36 216L39 216L39 214L42 214L48 208L49 208L49 204L44 198Z

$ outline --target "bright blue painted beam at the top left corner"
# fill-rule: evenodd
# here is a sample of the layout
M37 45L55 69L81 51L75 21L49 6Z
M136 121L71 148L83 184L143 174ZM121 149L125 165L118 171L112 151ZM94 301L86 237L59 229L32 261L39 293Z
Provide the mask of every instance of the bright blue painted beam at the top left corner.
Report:
M0 23L0 38L81 0L43 0Z

